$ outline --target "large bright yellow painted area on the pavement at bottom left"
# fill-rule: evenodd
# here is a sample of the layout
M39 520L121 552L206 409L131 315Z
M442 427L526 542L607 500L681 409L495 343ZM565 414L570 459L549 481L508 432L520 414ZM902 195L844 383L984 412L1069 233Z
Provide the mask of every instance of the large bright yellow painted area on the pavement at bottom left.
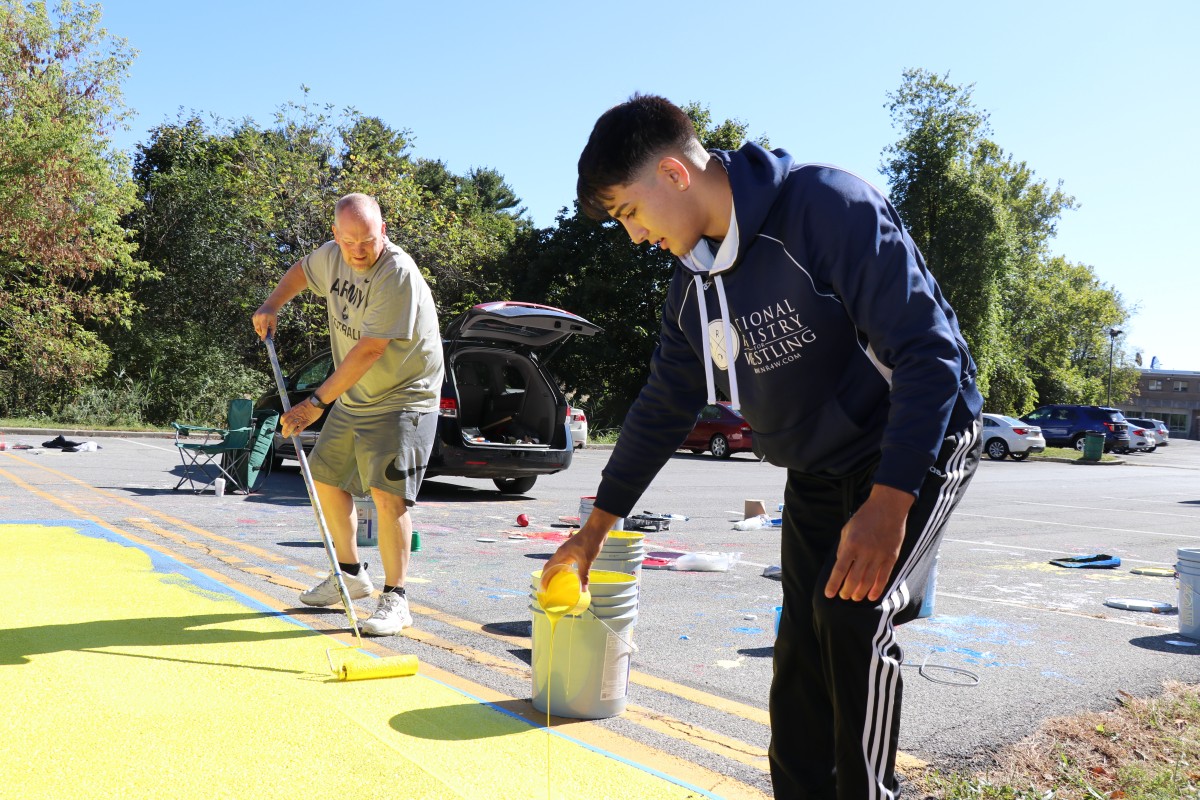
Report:
M28 800L542 795L544 732L442 682L343 682L331 639L98 525L0 524L0 786ZM712 796L554 734L570 794Z

